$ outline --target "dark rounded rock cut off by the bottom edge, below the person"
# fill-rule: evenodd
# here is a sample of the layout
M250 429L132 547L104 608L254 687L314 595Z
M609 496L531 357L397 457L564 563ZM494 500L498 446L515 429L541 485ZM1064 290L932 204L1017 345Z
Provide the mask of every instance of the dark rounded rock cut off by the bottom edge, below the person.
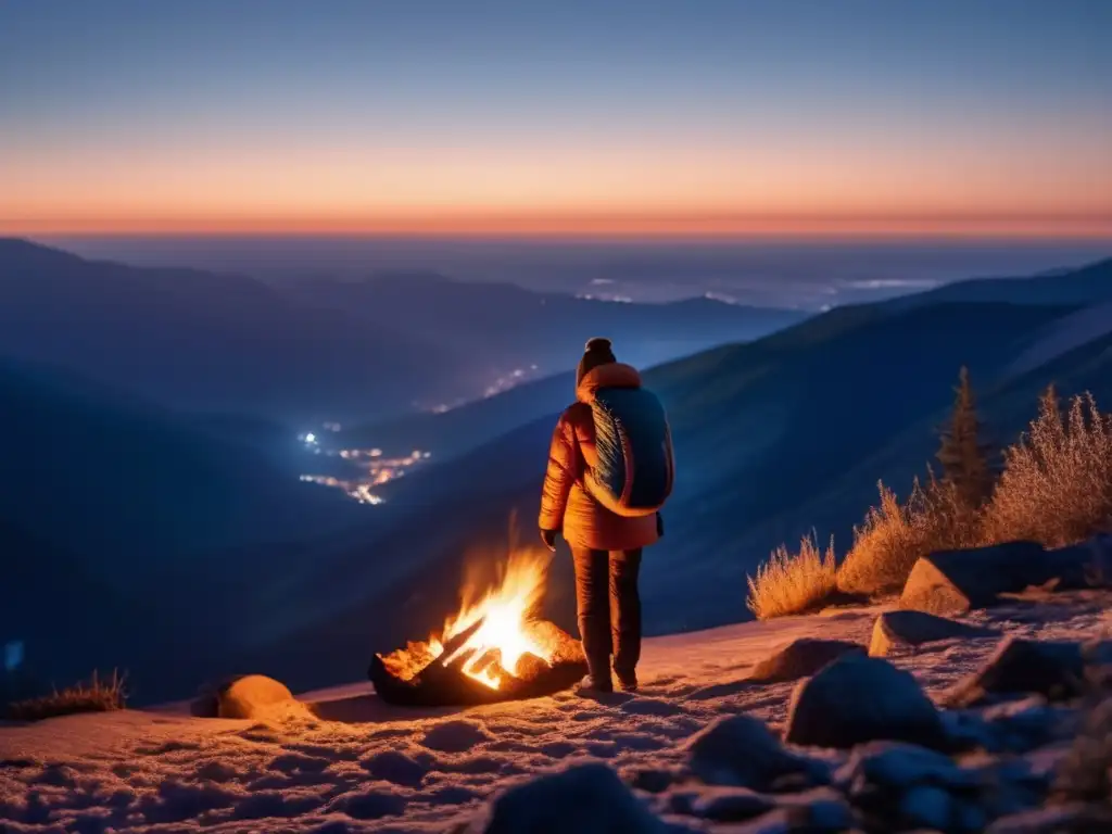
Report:
M664 834L610 767L590 763L538 776L499 794L485 818L468 830L483 834Z

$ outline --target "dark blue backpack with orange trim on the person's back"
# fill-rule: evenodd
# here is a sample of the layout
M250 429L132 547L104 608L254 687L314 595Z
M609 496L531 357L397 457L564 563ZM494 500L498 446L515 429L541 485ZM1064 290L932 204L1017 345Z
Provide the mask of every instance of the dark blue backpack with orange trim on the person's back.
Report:
M587 493L616 515L653 515L675 474L664 406L644 388L599 388L590 410L598 465L584 477Z

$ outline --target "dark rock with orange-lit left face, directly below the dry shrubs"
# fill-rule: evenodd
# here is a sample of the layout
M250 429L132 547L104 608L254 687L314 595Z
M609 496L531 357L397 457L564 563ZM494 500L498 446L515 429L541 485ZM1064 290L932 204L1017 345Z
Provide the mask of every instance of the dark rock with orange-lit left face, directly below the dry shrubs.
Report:
M1037 542L1009 542L920 557L900 597L900 607L929 614L964 614L994 605L1000 594L1045 585L1068 559L1046 558Z

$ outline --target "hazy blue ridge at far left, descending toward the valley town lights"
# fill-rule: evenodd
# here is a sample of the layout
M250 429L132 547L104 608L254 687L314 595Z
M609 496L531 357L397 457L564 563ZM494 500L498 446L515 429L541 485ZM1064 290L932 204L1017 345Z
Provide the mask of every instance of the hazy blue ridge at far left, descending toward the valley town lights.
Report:
M415 379L396 351L427 373ZM0 240L0 356L176 409L289 421L405 410L464 374L433 345L305 308L249 278L135 269L21 240Z

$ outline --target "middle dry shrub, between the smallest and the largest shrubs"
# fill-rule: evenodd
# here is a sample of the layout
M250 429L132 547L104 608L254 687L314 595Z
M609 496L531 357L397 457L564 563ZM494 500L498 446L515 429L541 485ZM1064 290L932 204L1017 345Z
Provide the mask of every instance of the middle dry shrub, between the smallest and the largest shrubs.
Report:
M980 514L962 500L950 481L919 479L906 504L877 485L881 503L854 528L853 547L837 572L837 588L846 594L887 594L903 588L916 559L933 550L979 544Z

